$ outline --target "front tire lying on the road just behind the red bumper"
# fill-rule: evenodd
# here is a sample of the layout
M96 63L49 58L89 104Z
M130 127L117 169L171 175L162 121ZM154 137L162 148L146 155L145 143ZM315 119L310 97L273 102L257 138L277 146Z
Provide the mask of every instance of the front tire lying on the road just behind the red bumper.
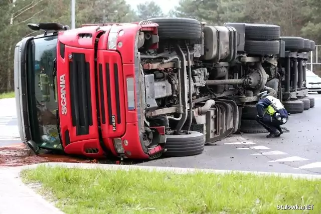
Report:
M181 157L201 154L205 147L205 135L201 132L190 131L185 135L166 135L164 156Z

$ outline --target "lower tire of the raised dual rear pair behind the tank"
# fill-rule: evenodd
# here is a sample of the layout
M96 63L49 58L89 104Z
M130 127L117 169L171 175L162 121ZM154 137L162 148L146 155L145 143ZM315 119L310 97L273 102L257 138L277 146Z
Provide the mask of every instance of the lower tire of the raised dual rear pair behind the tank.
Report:
M279 41L245 41L244 50L253 55L276 55L280 51Z

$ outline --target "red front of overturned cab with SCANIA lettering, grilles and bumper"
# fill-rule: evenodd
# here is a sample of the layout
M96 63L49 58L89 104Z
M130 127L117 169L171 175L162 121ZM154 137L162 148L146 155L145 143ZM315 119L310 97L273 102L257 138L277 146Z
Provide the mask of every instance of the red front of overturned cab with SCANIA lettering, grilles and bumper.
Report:
M157 48L155 24L87 26L59 33L58 110L66 153L148 158L164 149L159 145L165 143L164 126L150 127L164 136L153 147L145 142L139 32L153 37L151 45Z

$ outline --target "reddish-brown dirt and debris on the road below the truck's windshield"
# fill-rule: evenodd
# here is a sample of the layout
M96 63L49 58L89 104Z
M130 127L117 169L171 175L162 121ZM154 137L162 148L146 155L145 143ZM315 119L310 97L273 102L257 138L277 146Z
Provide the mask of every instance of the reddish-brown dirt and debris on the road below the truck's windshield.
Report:
M48 151L35 155L25 144L0 147L0 166L24 166L44 162L95 163L96 160L52 154Z

